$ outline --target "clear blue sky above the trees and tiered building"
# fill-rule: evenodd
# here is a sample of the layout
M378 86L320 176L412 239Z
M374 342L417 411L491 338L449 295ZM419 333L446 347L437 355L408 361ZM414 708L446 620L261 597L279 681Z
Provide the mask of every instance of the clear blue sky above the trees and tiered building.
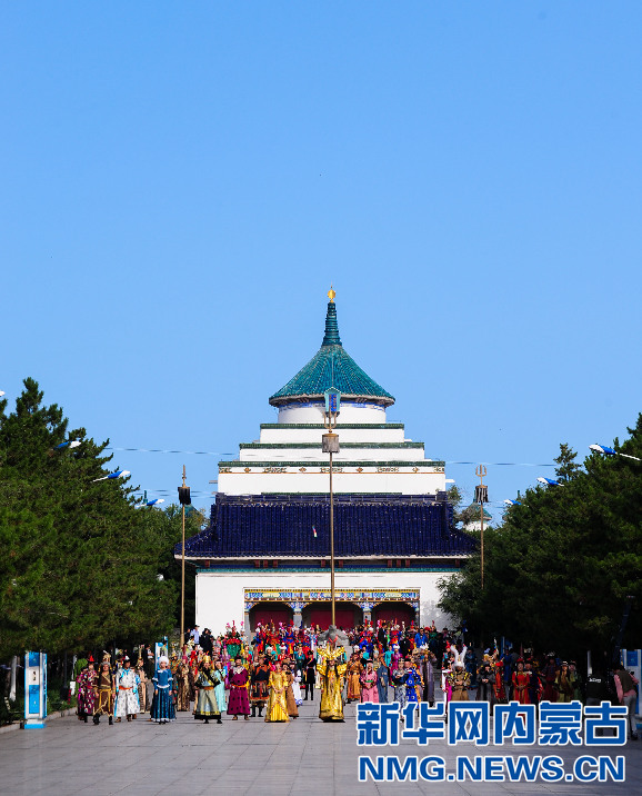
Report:
M427 456L623 437L641 34L624 0L3 3L0 389L32 376L117 447L234 454L332 281ZM215 457L113 460L154 495L183 462L204 506ZM495 504L552 472L488 471Z

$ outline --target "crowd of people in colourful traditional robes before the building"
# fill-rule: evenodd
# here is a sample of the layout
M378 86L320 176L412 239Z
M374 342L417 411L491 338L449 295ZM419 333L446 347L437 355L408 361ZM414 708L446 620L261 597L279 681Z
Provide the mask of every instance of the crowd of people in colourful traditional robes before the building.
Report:
M98 669L90 659L78 677L78 714L94 724L101 716L110 724L131 722L147 710L150 722L161 724L190 710L205 724L221 724L223 715L289 722L304 702L314 700L315 691L321 694L319 717L327 722L343 720L343 707L351 702L403 707L433 705L437 698L475 699L489 702L492 710L510 700L596 705L606 699L629 707L630 736L636 738L636 686L623 667L583 678L575 661L552 653L509 648L500 654L493 647L478 660L465 628L438 631L434 623L422 628L380 623L347 631L270 624L250 636L233 625L219 636L197 626L182 649L163 649L158 659L149 645L138 648L134 666L126 653L116 661L106 654Z

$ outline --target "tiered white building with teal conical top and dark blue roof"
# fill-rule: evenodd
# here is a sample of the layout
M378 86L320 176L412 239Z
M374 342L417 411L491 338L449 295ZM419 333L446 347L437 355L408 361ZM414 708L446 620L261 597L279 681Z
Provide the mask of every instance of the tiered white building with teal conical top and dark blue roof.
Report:
M324 394L341 394L333 456L337 625L448 624L437 583L474 540L453 526L444 462L387 422L394 398L343 348L334 291L319 351L270 398L277 422L219 462L208 528L185 544L197 567L197 621L219 633L273 620L330 621L329 458ZM175 548L180 557L180 545Z

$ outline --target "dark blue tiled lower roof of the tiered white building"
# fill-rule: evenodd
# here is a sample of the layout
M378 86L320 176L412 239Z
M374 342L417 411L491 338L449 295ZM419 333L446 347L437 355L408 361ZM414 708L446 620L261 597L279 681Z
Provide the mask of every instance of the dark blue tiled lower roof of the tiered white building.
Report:
M452 507L428 496L334 497L334 549L351 556L460 556L474 539L452 524ZM313 529L317 529L314 537ZM328 496L218 495L209 527L185 543L185 555L324 557L330 549ZM180 544L177 553L180 554Z

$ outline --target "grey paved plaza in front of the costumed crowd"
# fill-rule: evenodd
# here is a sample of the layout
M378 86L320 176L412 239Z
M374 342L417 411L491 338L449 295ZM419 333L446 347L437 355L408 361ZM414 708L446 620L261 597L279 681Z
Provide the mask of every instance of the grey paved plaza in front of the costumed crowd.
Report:
M560 754L570 768L581 754L623 754L626 782L568 784L552 783L398 783L358 782L360 754L440 755L447 770L454 770L457 755L498 754L496 747L473 749L431 742L418 747L402 740L394 749L359 749L355 744L355 706L345 708L344 724L323 724L314 703L303 703L300 718L289 724L265 724L262 719L204 725L191 714L179 714L170 725L148 722L140 715L130 724L98 727L76 716L50 720L46 729L16 730L0 735L0 793L6 794L641 794L642 742L632 742L618 752L608 747L569 750L536 749L534 754ZM504 750L502 750L504 752ZM506 754L519 754L512 748ZM501 753L500 753L501 754Z

